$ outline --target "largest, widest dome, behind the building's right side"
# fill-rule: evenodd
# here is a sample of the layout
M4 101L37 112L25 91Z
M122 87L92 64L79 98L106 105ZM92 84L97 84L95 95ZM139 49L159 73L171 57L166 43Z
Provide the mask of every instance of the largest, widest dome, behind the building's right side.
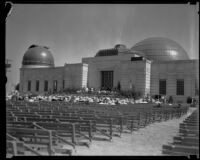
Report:
M163 37L147 38L136 43L131 50L154 61L189 59L187 52L177 42Z

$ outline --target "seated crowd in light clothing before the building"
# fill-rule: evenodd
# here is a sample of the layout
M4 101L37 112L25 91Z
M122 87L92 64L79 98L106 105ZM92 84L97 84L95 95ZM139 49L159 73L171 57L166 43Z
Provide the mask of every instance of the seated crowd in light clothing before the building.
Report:
M92 92L92 90L91 90ZM85 94L82 91L77 91L77 94L49 94L49 95L20 95L19 92L13 91L6 99L24 100L29 102L36 101L64 101L69 103L98 103L103 105L126 105L134 103L164 103L162 99L153 99L151 97L143 97L139 99L125 98L116 95L113 91L98 91L95 94ZM162 101L161 101L162 100Z

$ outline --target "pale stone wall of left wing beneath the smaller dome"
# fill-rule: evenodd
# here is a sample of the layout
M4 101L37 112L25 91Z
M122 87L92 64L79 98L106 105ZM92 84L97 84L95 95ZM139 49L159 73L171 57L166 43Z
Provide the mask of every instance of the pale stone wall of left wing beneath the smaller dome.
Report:
M36 91L36 81L39 81L39 91ZM28 91L28 81L31 81L31 90ZM21 68L20 92L45 93L44 83L48 81L48 90L53 92L53 83L57 81L57 91L65 88L80 89L87 86L87 64L65 64L63 67L50 68ZM64 81L64 82L63 82Z

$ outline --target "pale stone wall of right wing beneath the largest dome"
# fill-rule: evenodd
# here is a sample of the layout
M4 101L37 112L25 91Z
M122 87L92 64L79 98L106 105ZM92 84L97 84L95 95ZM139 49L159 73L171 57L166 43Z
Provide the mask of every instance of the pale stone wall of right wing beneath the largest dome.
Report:
M166 95L176 101L186 101L187 97L195 97L195 81L199 81L198 60L177 60L154 62L151 66L151 95L159 94L159 79L166 79ZM184 80L184 95L177 95L177 79ZM196 84L199 88L199 84Z

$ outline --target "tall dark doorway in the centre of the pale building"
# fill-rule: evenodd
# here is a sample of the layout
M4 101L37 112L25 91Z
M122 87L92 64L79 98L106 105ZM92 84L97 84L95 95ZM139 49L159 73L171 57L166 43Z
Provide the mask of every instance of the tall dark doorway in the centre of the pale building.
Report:
M111 90L113 88L113 71L101 71L101 89Z

